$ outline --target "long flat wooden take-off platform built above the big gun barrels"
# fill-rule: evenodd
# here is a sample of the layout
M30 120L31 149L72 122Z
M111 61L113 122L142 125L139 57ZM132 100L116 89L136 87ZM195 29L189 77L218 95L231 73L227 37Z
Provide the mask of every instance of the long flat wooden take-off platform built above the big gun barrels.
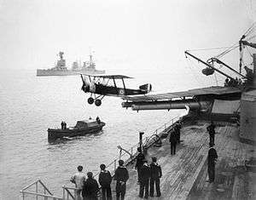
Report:
M151 101L151 100L171 100L173 98L193 97L195 95L203 95L203 94L221 95L221 94L234 94L234 93L241 93L241 89L214 86L214 87L201 88L201 89L189 89L183 92L149 94L149 95L140 95L140 96L124 96L122 97L122 99L131 100L133 102L139 102L139 101Z

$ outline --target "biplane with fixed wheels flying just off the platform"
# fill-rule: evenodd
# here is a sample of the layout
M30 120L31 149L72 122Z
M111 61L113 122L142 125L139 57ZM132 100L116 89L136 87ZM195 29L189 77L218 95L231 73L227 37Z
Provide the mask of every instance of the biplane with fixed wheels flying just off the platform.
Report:
M102 105L102 99L105 96L130 96L137 94L148 94L152 86L151 84L143 84L139 89L126 89L125 79L132 78L124 75L89 75L80 74L83 82L82 90L84 93L90 93L88 103L95 103L96 106ZM117 86L117 81L122 81L122 87ZM97 95L98 94L98 95Z

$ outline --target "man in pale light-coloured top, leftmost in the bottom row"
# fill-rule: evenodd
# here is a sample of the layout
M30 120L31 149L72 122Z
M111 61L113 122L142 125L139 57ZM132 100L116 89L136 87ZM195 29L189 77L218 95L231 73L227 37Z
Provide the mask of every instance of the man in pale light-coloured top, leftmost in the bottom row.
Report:
M78 167L78 172L74 174L70 181L75 184L77 190L76 190L76 195L78 197L78 200L81 200L81 191L84 186L84 181L85 181L85 174L83 173L83 167L79 165Z

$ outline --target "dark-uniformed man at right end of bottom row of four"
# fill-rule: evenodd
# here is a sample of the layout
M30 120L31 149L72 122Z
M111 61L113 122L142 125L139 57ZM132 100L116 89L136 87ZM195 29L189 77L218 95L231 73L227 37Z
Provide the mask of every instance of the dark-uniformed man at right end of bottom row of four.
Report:
M116 180L116 199L119 200L121 195L121 200L125 199L126 191L126 181L129 179L128 170L124 166L124 161L119 160L119 167L114 172L114 180Z

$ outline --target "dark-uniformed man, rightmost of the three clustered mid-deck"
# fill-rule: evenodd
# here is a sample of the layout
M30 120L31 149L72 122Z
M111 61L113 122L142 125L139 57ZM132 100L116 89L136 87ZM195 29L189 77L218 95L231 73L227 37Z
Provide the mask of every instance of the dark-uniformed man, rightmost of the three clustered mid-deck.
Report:
M162 169L158 163L157 158L152 157L152 163L150 163L150 197L154 197L154 184L156 190L156 196L160 197L160 178L162 177Z

